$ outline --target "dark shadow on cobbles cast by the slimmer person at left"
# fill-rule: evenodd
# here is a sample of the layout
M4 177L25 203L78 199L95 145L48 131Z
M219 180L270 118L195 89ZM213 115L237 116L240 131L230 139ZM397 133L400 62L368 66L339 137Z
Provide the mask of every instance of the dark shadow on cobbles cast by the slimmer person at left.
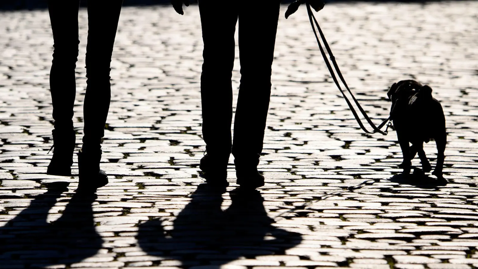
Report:
M48 211L67 191L67 182L50 183L30 206L0 227L2 268L43 268L72 264L98 253L103 240L95 230L91 204L96 194L76 193L62 216L47 223Z

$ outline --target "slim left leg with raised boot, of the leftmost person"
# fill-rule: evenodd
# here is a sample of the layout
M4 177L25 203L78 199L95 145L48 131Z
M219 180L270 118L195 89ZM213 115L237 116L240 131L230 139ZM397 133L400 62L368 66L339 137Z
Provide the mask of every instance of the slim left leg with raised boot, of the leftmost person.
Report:
M47 173L71 176L75 131L73 104L76 84L75 67L78 57L79 0L49 0L48 11L52 25L54 51L50 71L50 91L53 103L54 154Z

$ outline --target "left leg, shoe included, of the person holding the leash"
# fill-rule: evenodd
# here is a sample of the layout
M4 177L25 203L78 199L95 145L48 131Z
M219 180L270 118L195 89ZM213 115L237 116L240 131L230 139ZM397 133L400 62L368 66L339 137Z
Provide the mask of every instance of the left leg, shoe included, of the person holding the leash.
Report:
M201 74L202 131L207 157L201 169L209 179L225 181L231 153L234 32L236 1L200 0L204 51Z

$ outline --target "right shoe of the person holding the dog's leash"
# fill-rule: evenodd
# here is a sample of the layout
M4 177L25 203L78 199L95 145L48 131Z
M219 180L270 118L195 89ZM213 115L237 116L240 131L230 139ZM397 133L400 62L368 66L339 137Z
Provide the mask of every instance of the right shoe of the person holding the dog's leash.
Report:
M257 170L259 157L246 159L235 158L237 184L243 189L256 189L264 186L264 176Z

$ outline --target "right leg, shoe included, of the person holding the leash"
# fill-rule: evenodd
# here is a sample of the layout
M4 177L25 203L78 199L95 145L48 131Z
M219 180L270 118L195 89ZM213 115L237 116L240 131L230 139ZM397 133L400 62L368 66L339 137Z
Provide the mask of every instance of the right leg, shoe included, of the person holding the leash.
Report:
M234 119L232 154L238 184L257 188L257 171L271 95L272 59L280 1L239 4L240 87ZM252 8L251 8L252 7Z

